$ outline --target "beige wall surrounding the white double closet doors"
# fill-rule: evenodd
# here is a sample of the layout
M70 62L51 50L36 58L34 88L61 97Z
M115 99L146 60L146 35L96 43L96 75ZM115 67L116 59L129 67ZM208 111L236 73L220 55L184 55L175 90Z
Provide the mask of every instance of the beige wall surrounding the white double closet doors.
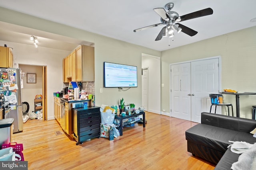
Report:
M256 27L250 27L218 37L213 37L175 49L162 51L161 109L170 111L169 64L206 57L221 56L221 91L225 88L239 92L256 92ZM235 96L225 95L235 109ZM256 95L240 96L240 115L251 118L251 107L256 105Z

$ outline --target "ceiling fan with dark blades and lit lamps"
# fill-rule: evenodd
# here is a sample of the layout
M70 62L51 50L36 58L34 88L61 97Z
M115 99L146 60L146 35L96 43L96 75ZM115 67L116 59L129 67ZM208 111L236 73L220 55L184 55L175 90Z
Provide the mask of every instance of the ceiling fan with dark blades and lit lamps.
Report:
M138 32L138 31L142 31L142 30L145 30L145 29L148 29L151 27L157 27L159 25L166 25L165 27L162 28L162 30L156 37L155 41L162 39L162 37L174 37L174 30L177 33L180 33L180 31L181 31L187 35L194 36L198 33L197 31L195 31L189 27L186 27L186 26L180 24L179 22L213 14L212 8L206 8L204 10L192 12L192 13L186 14L184 16L179 16L179 14L177 12L171 11L173 7L174 7L174 3L170 2L170 3L166 4L164 7L167 10L167 12L166 12L166 10L164 10L164 8L154 8L154 11L161 17L160 18L161 23L149 25L147 27L142 27L139 29L134 29L133 31Z

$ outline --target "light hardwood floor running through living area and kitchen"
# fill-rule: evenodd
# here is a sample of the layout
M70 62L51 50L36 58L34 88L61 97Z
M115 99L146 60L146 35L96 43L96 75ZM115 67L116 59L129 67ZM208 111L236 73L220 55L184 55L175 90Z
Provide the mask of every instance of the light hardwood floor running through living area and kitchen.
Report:
M76 145L55 120L28 120L13 141L23 143L29 170L213 170L214 164L187 152L185 131L197 123L146 112L148 123L125 127L109 141ZM55 131L62 131L55 135Z

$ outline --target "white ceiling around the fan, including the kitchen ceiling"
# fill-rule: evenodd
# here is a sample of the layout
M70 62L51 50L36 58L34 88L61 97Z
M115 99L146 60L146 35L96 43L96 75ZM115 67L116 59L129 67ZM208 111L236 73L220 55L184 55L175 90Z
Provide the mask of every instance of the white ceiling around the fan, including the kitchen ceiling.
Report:
M174 2L172 11L178 12L180 16L205 8L212 8L213 14L182 21L183 25L198 31L198 34L193 37L183 32L176 34L174 41L170 40L170 46L167 37L154 41L164 25L133 32L134 29L160 23L160 16L153 9L164 8L169 2ZM256 0L1 0L0 6L158 51L256 25L256 22L250 22L251 19L256 18ZM38 33L33 35L40 37L38 38L40 47L44 47L43 44L46 42L45 45L50 45L51 48L67 51L71 51L68 49L72 49L73 46L86 43L56 35L54 41L47 33L39 33L35 30L31 33L26 30L24 31L26 34L23 35L24 32L19 31L18 27L12 30L11 26L13 25L0 23L0 40L15 42L18 41L15 39L21 36L21 39L28 41L27 34ZM10 39L13 38L8 37L10 34L15 39ZM63 46L60 41L64 43ZM21 40L18 43L26 44ZM51 43L59 44L61 47Z

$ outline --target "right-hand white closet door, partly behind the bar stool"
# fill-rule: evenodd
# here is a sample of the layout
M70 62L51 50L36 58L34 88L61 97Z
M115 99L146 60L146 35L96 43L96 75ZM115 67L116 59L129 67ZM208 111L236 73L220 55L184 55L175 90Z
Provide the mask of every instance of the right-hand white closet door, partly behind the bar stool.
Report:
M210 112L209 94L219 92L218 59L191 62L191 121L201 123L201 113Z

